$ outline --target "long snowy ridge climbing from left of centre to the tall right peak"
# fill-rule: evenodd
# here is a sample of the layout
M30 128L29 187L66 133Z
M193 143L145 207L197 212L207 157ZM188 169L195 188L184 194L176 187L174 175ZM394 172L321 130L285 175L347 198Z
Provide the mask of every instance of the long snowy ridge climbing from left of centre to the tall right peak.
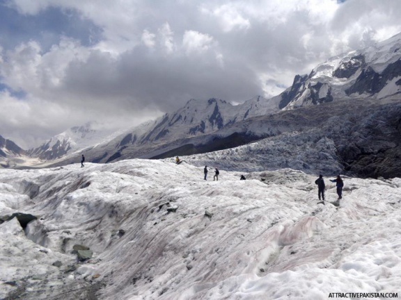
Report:
M99 145L88 156L94 162L109 163L135 157L163 158L216 151L297 130L296 120L288 119L286 124L294 122L294 126L247 129L258 117L269 119L278 114L280 118L285 110L338 101L347 109L348 103L356 99L367 99L366 103L370 99L378 103L384 99L385 103L388 97L400 94L400 58L401 34L331 58L309 75L295 76L292 86L272 99L255 97L238 106L219 99L192 99L180 110L141 126L140 130L127 131ZM341 110L338 113L342 114Z

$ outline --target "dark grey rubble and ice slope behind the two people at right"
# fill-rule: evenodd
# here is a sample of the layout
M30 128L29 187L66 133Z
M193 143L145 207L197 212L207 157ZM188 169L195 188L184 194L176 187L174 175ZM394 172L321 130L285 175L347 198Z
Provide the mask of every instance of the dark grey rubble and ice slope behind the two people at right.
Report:
M223 133L230 139L246 135L268 136L215 151L213 147L221 140L214 134L214 140L207 144L213 154L204 153L210 151L202 151L202 144L197 150L204 154L193 156L182 151L184 147L171 153L182 151L180 158L193 165L237 172L291 168L307 174L401 177L401 97L304 106L234 124ZM194 139L186 142L196 144Z

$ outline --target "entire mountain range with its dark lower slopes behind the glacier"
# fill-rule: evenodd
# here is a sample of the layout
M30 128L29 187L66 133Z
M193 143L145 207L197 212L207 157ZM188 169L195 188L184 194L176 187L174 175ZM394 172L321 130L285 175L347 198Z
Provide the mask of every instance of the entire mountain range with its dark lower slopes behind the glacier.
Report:
M29 153L52 159L49 163L60 166L77 162L78 151L93 163L110 163L130 158L189 156L269 139L275 141L269 147L281 163L277 165L267 156L263 165L267 169L287 164L310 173L322 167L363 177L398 176L400 49L401 34L331 58L309 75L297 75L290 88L271 99L259 96L237 106L220 99L191 99L173 113L120 134L107 138L101 134L103 138L97 139L91 138L97 132L90 127L75 128ZM302 109L295 112L295 108ZM333 162L331 165L315 159L301 163L288 155L283 141L303 144L308 139L306 133L314 137L310 144L329 137L332 148L327 162ZM277 148L278 144L283 147ZM310 158L322 157L313 147L308 149ZM244 168L237 164L238 170Z

